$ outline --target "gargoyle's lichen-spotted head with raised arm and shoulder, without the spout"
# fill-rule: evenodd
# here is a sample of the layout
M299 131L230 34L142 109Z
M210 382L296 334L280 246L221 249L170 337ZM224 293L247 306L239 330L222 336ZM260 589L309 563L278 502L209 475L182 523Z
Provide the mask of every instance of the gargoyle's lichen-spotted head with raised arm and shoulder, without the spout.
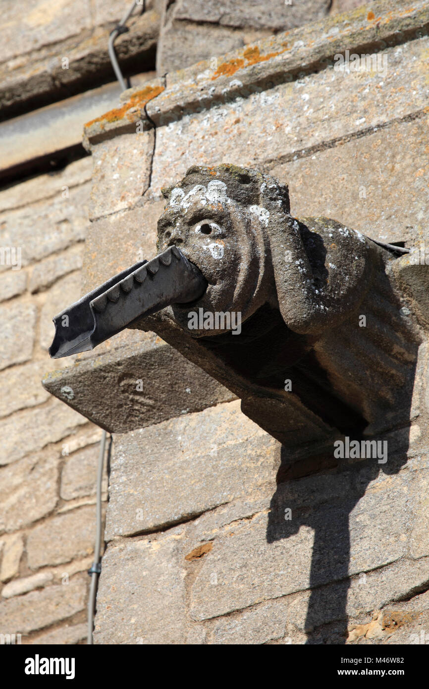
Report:
M176 245L208 282L193 308L240 312L244 322L268 303L293 331L315 333L368 288L365 238L335 220L318 218L310 228L292 218L288 187L276 178L236 165L195 166L163 195L158 249ZM189 304L170 313L187 329Z

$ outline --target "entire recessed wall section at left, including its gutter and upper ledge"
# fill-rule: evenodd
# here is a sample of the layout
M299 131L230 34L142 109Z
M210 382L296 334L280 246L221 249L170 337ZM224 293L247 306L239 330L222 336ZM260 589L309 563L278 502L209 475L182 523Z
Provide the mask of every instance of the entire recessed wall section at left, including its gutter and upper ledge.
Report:
M82 127L120 92L103 83L114 79L107 39L127 4L2 3L0 633L23 644L87 635L101 429L41 379L70 365L48 356L52 316L81 296L92 177ZM143 72L134 83L154 76L160 15L146 4L118 40L125 73Z

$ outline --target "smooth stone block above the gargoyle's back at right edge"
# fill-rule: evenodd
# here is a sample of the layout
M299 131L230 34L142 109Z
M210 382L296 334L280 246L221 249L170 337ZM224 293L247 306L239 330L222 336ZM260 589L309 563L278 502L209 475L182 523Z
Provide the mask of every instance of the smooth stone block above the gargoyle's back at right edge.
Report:
M295 216L323 214L371 238L419 247L429 208L427 130L426 118L393 123L270 172L289 185Z

